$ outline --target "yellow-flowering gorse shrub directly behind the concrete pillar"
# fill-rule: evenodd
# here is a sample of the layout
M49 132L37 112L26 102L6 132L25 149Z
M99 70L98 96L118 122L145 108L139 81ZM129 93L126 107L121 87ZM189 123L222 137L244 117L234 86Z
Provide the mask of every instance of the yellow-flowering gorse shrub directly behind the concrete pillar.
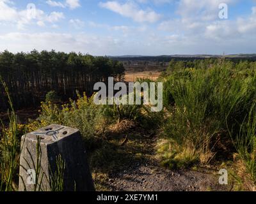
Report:
M88 98L85 93L77 93L76 101L70 99L69 103L56 105L51 102L42 102L40 117L30 122L28 129L38 129L49 124L62 124L81 131L86 143L90 145L93 138L106 131L107 122L104 119L104 106L95 105L93 97Z

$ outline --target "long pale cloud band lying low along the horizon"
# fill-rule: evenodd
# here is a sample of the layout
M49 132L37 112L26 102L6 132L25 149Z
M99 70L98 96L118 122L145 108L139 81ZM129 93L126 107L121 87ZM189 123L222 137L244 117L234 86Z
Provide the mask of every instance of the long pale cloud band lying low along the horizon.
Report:
M226 22L227 24L227 22ZM221 34L221 29L216 25L211 31ZM117 30L119 28L116 28ZM117 32L117 31L116 31ZM226 31L225 31L226 32ZM112 32L113 33L113 32ZM228 33L231 33L227 30ZM222 37L214 39L212 36L167 34L160 35L154 30L144 33L133 33L136 38L127 38L120 34L113 35L88 35L86 33L8 33L0 34L0 50L8 49L11 52L29 52L36 50L56 50L63 52L82 52L92 55L161 55L161 54L222 54L223 52L252 53L255 52L256 35ZM216 35L215 35L216 37Z

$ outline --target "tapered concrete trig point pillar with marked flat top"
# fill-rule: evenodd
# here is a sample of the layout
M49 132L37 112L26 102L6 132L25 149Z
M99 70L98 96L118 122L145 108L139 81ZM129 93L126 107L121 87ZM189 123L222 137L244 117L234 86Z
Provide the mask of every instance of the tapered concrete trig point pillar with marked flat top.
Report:
M42 188L38 191L51 191L49 178L56 171L56 157L65 162L63 177L64 191L95 191L88 166L86 151L78 129L52 124L22 136L20 155L19 191L34 191L35 185L29 182L33 166L38 158L38 136L40 137ZM34 161L34 164L33 164ZM30 177L29 177L30 176ZM35 178L34 178L35 179ZM24 186L25 185L25 186Z

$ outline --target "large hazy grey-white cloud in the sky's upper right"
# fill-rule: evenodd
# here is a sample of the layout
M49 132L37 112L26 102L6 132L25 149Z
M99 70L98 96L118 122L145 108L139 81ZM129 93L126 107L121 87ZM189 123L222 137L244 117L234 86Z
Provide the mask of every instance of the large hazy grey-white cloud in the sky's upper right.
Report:
M236 20L221 20L218 18L222 0L180 0L178 18L166 20L159 24L158 29L170 34L180 34L193 38L214 41L228 41L244 37L256 31L255 7L249 17ZM226 3L235 1L225 0ZM229 5L229 4L228 4Z

